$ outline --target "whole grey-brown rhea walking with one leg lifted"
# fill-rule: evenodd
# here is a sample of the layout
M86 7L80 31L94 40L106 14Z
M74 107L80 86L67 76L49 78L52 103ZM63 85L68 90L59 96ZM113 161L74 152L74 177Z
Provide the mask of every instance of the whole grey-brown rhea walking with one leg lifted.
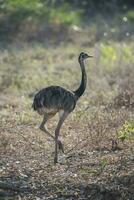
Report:
M84 65L84 60L92 57L87 53L80 53L78 62L80 64L82 78L80 86L75 91L67 90L60 86L49 86L40 90L34 97L33 105L35 111L43 115L43 121L39 128L55 141L55 156L54 163L58 162L58 148L64 153L62 142L59 140L59 134L62 124L71 113L77 103L77 100L83 95L86 84L87 75ZM56 113L59 113L59 121L55 129L55 136L53 136L46 127L46 122L52 118Z

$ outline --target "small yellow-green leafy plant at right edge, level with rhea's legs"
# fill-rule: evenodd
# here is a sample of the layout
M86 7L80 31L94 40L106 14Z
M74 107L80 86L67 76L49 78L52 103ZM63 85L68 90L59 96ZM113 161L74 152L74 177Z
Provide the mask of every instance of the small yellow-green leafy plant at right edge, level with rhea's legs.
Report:
M134 140L134 122L125 122L118 132L118 138L121 141Z

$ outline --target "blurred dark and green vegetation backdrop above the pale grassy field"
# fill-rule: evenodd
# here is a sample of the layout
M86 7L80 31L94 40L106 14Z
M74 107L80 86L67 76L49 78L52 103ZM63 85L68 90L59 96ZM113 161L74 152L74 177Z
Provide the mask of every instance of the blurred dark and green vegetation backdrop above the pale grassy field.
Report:
M1 0L0 41L70 41L87 29L88 42L130 39L134 32L132 0ZM69 31L72 31L71 33ZM69 34L70 33L70 34Z

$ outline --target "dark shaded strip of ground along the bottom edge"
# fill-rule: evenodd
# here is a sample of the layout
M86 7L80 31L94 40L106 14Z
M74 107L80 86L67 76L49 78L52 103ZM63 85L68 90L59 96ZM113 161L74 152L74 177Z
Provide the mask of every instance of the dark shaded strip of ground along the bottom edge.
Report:
M11 179L12 177L12 179ZM49 183L37 177L11 175L0 180L0 199L90 199L90 200L133 200L134 175L114 177L110 181L90 184ZM36 179L36 180L34 180ZM31 181L33 180L33 182Z

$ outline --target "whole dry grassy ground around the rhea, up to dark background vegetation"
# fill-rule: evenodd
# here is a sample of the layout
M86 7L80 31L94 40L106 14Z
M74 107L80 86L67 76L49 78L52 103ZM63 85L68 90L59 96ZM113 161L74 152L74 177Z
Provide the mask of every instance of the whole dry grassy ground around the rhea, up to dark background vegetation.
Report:
M75 48L74 48L75 46ZM8 46L0 53L0 199L134 199L132 43ZM54 142L31 108L48 85L78 87L80 51L88 85L61 129L65 155L54 165ZM58 120L48 123L54 134Z

